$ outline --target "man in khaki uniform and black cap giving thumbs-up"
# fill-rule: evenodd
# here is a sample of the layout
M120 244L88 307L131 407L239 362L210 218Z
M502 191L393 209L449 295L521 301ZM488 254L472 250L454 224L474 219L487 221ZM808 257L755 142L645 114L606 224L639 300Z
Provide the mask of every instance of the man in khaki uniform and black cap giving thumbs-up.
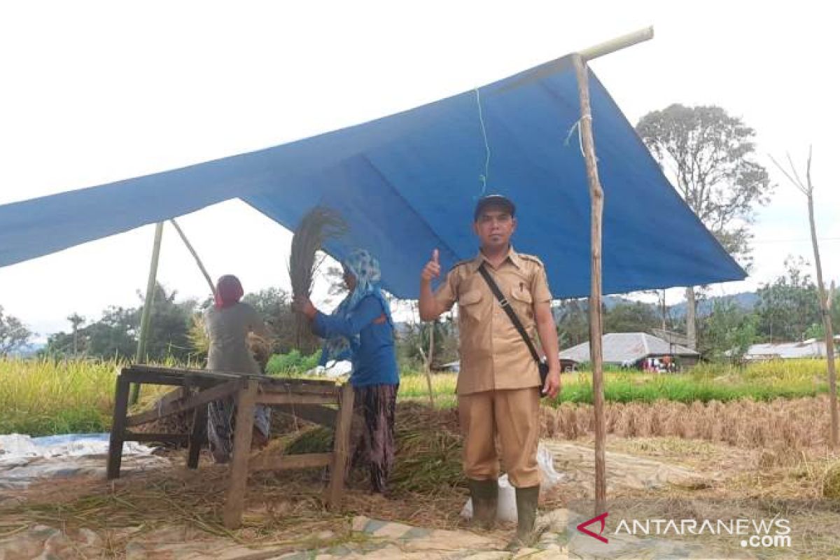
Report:
M473 519L490 528L496 519L499 461L517 492L517 539L512 547L532 544L539 496L537 444L540 390L552 397L560 389L557 332L551 293L539 259L513 250L516 207L504 196L480 199L473 229L480 240L474 259L461 261L432 292L440 275L438 250L423 268L420 317L432 321L458 302L460 372L458 410L464 432L464 470L470 484ZM542 343L549 376L540 387L539 371L528 345L481 276L484 264L532 340Z

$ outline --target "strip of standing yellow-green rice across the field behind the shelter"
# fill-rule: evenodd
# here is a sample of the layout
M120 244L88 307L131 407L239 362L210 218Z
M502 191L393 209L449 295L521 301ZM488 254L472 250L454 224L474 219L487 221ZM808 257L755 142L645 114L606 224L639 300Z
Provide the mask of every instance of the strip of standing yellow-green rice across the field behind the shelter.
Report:
M115 361L0 359L0 433L107 432L120 367ZM607 373L605 396L607 403L616 405L769 403L827 393L826 374L826 364L819 360L764 362L743 369L704 364L685 374ZM436 408L454 406L456 381L457 374L433 374ZM140 404L155 400L163 390L146 390ZM425 375L404 372L399 399L428 403ZM591 374L577 372L563 374L561 394L545 404L559 410L585 410L591 402Z

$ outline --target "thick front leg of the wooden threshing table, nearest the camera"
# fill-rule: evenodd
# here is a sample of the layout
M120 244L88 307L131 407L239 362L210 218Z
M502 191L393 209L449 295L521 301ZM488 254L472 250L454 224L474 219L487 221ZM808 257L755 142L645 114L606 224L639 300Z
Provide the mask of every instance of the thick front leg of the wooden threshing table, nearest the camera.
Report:
M242 524L245 503L245 484L248 481L248 459L254 431L254 407L260 385L249 379L239 390L236 400L236 429L234 432L234 459L230 464L230 482L222 515L224 526L236 529Z

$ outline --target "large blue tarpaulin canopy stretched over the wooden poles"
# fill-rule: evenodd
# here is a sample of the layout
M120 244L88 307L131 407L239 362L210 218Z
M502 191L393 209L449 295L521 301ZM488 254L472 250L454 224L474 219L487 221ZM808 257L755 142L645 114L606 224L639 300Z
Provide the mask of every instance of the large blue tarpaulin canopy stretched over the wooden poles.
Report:
M605 193L604 292L743 279L594 74L590 86ZM0 265L239 197L290 229L313 206L333 207L350 230L328 253L341 259L370 249L386 289L413 298L432 249L444 269L475 255L475 201L500 193L517 203L515 247L543 259L554 296L585 296L590 197L579 139L570 134L579 118L565 57L370 123L0 206Z

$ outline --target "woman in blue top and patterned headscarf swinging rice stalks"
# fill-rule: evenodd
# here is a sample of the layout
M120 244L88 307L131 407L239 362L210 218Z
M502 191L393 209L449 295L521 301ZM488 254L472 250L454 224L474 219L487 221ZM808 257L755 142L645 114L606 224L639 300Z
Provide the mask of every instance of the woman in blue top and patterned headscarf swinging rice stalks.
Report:
M294 305L312 322L312 331L325 339L321 363L349 358L353 364L354 411L365 423L362 441L353 442L355 455L367 455L371 488L386 494L394 463L394 416L400 386L394 322L379 287L379 262L367 251L356 249L342 264L349 295L331 315L318 311L305 297L297 298ZM357 447L359 443L364 447Z

